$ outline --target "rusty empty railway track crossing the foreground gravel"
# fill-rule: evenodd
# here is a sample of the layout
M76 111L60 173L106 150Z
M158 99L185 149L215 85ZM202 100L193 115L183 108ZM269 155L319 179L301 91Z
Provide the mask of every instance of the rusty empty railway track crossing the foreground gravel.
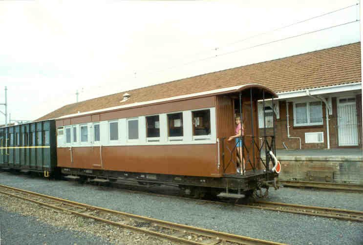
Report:
M280 243L171 223L102 207L95 207L4 185L0 185L0 193L20 198L40 206L50 207L114 226L121 226L136 232L147 233L150 236L181 244L282 245Z

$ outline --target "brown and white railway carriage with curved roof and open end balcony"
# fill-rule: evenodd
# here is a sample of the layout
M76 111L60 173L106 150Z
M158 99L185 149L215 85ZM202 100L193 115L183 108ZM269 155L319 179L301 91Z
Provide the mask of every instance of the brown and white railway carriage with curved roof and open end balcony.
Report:
M101 182L241 195L274 181L276 186L270 157L260 154L262 148L275 152L274 135L264 135L260 146L256 106L274 97L268 88L250 84L66 115L56 119L57 164L68 178ZM245 128L242 175L235 142L226 140L234 135L239 113Z

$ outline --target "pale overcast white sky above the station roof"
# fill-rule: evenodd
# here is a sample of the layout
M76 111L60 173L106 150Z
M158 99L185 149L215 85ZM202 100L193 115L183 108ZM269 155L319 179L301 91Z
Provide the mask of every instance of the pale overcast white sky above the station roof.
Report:
M11 119L35 120L75 103L77 90L82 101L357 42L357 3L0 1L0 103L7 86Z

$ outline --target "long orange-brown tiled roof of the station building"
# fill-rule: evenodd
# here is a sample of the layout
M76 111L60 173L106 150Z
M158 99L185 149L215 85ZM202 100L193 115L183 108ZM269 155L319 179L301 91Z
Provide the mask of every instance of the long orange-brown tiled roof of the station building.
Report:
M361 43L357 42L89 99L65 105L37 121L119 106L126 92L131 97L124 105L248 83L279 93L361 82L361 77Z

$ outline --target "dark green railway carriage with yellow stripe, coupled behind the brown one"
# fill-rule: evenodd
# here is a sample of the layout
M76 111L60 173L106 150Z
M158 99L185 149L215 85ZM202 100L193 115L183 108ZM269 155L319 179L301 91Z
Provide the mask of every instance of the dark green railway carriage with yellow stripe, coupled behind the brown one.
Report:
M0 128L0 169L56 173L55 121L47 120Z

